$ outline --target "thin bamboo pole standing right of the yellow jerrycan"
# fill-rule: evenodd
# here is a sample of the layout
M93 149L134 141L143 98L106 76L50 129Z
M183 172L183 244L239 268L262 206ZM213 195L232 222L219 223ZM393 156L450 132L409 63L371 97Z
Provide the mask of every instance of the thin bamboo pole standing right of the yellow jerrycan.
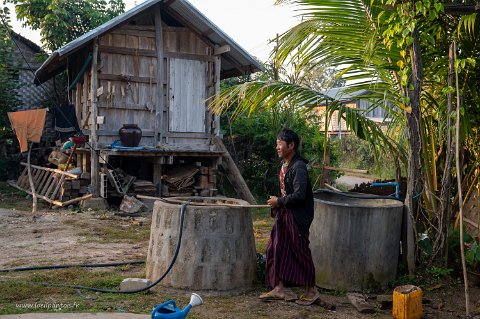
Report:
M457 60L456 43L453 41L453 59ZM463 195L462 195L462 169L460 163L460 92L458 85L458 70L455 68L455 85L457 91L457 118L455 124L455 164L457 168L458 206L460 210L460 253L462 257L463 282L465 285L465 314L470 316L470 291L468 288L467 265L465 261L465 247L463 244Z

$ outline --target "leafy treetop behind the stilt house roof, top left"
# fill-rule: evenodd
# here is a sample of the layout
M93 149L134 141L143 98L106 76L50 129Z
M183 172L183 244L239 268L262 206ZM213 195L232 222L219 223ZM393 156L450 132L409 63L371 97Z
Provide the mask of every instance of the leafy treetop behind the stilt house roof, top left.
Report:
M17 18L40 30L43 46L54 51L123 13L123 0L8 0Z

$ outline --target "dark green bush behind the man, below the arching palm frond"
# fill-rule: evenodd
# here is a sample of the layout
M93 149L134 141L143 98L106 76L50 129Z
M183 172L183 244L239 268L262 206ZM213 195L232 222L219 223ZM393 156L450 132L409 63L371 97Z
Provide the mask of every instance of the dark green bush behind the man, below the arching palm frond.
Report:
M310 161L312 183L319 176L313 165L323 159L323 135L318 118L301 111L257 111L254 116L239 116L229 121L231 114L222 116L225 145L239 166L251 191L263 201L278 192L280 161L275 150L278 132L283 127L296 131L302 140L302 156Z

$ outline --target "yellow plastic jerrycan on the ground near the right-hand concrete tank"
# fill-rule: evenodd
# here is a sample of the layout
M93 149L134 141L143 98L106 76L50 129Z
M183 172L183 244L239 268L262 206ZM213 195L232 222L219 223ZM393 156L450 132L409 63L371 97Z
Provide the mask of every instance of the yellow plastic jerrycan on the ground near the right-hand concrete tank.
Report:
M399 286L393 290L392 314L395 319L422 318L422 289L413 285Z

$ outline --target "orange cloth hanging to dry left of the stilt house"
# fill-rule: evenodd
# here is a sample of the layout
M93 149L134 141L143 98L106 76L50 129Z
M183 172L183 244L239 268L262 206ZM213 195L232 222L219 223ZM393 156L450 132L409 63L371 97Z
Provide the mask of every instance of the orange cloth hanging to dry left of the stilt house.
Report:
M47 109L8 112L8 119L17 135L20 151L28 150L28 141L39 143L45 126Z

